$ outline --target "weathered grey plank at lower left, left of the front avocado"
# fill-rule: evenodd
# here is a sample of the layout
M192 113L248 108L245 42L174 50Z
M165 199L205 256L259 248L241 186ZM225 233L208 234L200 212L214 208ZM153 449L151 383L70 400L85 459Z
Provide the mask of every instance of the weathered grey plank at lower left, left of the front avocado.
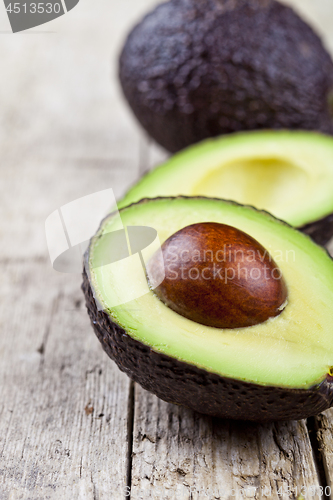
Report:
M123 499L130 382L93 335L80 278L47 266L1 269L0 499Z

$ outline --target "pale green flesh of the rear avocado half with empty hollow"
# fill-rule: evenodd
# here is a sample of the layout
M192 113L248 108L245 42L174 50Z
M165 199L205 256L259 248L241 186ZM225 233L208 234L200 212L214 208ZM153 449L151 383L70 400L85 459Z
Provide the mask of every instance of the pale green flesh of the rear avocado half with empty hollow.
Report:
M118 204L209 196L267 210L295 227L333 212L333 138L299 131L238 133L204 141L144 176Z

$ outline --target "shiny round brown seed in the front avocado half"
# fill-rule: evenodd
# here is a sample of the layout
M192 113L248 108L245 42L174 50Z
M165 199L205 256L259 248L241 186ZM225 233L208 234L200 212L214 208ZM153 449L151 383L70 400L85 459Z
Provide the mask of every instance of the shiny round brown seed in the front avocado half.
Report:
M165 277L154 291L185 318L242 328L284 309L287 286L281 270L258 241L235 227L215 222L184 227L163 243L162 255ZM147 265L150 283L161 275L161 265L155 254Z

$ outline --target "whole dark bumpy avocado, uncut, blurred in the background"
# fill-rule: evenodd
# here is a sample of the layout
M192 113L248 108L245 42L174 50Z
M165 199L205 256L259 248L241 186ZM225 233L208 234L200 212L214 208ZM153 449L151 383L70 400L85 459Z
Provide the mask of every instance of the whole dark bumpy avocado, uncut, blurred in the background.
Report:
M120 56L135 116L169 151L253 129L333 133L333 64L319 37L275 0L169 0Z

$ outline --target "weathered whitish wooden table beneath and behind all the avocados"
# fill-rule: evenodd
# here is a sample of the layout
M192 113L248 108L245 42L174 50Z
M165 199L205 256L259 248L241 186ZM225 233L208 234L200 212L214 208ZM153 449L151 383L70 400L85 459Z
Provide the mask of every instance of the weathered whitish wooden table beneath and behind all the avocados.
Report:
M153 3L81 0L17 35L1 12L0 500L319 499L333 487L333 410L256 425L164 403L102 352L80 275L50 265L53 210L119 197L166 156L117 84L122 40ZM332 0L292 3L333 49Z

